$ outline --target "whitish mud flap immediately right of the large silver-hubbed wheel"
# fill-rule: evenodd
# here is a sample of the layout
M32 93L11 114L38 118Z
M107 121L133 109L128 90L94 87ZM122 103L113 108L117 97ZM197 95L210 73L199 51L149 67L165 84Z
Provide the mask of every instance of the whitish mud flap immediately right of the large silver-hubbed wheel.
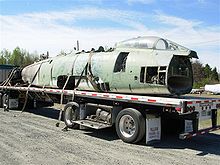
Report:
M152 144L161 139L161 117L152 114L146 116L146 144Z

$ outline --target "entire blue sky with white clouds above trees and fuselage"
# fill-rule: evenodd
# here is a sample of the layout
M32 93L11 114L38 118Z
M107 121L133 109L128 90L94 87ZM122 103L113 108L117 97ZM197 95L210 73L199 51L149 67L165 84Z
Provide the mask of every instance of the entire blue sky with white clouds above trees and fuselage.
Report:
M219 0L0 0L0 48L69 51L155 35L220 71Z

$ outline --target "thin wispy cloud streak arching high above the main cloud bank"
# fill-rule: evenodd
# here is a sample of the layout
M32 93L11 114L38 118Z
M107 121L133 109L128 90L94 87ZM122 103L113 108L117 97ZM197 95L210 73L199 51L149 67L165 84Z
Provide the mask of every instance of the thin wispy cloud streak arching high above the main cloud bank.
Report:
M65 22L74 22L77 20L83 19L106 19L132 28L143 28L144 25L137 22L137 18L144 19L144 15L138 12L131 11L121 11L117 9L98 9L98 8L83 8L76 9L65 12L49 12L49 13L32 13L25 14L22 17L26 19L32 19L33 21L43 21L43 22L52 22L52 21L65 21ZM54 22L53 22L54 23Z

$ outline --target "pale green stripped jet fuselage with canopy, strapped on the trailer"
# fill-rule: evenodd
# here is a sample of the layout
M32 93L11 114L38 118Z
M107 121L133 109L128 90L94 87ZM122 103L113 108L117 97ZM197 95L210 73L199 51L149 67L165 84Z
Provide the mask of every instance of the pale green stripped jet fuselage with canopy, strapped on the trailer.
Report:
M39 61L22 71L35 86L136 94L189 93L195 51L159 37L138 37L102 52L75 52Z

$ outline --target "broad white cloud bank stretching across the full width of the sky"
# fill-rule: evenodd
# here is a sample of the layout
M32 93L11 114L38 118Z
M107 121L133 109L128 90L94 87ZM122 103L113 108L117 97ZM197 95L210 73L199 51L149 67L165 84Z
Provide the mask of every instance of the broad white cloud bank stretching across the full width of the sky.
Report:
M143 23L153 19L155 28ZM79 26L87 20L111 21L112 27ZM146 15L141 12L116 9L81 8L63 12L41 12L22 15L0 16L0 48L14 49L16 46L39 53L49 51L53 56L61 50L70 50L80 41L81 49L89 50L99 45L113 46L115 42L143 35L165 37L186 47L198 50L202 62L210 61L210 54L220 56L219 27L203 27L198 20L187 20L162 12ZM213 42L215 41L215 42ZM212 48L210 48L210 45ZM211 66L220 64L210 61Z

